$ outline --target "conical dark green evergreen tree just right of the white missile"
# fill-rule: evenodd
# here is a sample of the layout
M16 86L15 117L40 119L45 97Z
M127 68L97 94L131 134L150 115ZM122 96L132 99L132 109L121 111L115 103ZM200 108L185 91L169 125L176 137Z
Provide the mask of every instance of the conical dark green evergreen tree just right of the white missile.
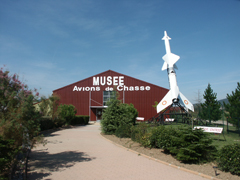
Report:
M221 118L220 103L217 101L217 93L214 93L211 85L208 84L204 91L203 98L204 103L201 103L201 112L199 113L200 118L208 119L211 124L211 120L217 121Z

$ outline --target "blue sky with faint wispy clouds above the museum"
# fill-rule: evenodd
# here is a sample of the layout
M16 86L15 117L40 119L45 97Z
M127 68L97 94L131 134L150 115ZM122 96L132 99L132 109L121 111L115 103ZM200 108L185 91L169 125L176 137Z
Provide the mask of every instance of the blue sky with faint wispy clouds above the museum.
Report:
M172 38L180 91L196 103L240 81L239 0L1 0L0 65L40 95L106 70L169 88Z

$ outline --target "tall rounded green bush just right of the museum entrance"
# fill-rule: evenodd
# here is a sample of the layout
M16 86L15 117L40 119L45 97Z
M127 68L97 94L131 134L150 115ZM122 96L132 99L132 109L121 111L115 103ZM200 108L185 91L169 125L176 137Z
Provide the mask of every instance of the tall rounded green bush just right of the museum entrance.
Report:
M118 99L111 99L107 105L101 120L103 133L115 134L118 128L130 129L135 124L138 112L132 104L122 104Z

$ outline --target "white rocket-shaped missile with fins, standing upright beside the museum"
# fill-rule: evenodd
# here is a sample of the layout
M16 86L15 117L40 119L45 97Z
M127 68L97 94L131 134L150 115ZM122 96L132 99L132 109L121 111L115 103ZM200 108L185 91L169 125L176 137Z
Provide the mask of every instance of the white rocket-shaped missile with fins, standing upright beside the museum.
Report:
M175 63L180 59L180 56L171 53L169 44L170 39L171 38L167 35L167 32L164 31L164 37L162 40L165 41L166 54L162 57L164 60L162 71L167 69L170 90L157 105L157 113L161 112L172 104L178 103L183 104L186 110L190 109L191 111L194 111L192 103L179 91L174 68L176 68Z

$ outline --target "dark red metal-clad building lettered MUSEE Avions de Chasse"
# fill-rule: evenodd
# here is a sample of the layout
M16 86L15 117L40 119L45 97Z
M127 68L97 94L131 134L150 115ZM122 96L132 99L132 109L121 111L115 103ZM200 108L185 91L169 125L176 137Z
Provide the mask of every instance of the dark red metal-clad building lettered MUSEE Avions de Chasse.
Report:
M88 115L90 121L101 120L102 110L118 91L122 103L132 103L138 116L148 120L157 114L153 107L160 102L168 89L139 79L108 70L53 91L60 97L61 104L72 104L77 115Z

